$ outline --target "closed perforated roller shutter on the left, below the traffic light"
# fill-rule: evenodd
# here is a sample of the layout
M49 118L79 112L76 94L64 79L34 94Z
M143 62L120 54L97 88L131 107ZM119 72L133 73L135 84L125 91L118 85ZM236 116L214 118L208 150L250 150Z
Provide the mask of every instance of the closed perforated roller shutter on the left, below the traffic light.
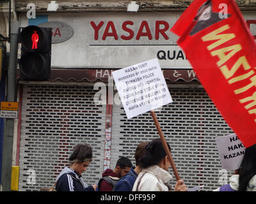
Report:
M95 105L93 87L24 85L19 191L51 187L77 143L93 148L83 175L97 183L103 170L106 106Z

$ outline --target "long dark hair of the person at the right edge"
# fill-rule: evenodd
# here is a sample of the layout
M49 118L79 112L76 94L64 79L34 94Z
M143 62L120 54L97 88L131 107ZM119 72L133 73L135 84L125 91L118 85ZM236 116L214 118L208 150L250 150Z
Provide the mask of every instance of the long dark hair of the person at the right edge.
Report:
M239 170L238 191L246 191L250 179L256 175L256 144L247 147Z

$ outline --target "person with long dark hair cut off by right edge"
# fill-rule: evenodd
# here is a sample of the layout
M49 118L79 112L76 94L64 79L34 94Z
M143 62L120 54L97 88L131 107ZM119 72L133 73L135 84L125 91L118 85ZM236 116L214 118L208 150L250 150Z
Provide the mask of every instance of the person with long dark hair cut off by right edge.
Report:
M214 191L256 191L256 144L247 147L239 170Z

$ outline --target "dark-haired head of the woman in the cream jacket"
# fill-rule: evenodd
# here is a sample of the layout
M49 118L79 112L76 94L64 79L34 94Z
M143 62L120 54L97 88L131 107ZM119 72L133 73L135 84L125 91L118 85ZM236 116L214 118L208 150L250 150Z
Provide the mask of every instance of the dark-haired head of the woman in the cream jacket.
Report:
M170 145L167 143L169 150L171 150ZM141 168L148 168L152 165L158 165L164 170L168 170L170 167L170 161L163 147L163 143L160 139L152 140L145 146L146 154L141 158L140 166Z

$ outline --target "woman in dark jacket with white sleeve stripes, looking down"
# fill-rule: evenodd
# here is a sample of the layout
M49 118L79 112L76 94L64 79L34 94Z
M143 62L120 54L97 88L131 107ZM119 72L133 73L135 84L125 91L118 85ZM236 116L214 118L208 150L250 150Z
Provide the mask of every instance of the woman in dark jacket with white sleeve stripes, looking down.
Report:
M97 185L87 186L81 176L92 161L92 147L86 143L76 145L69 161L70 166L65 167L56 179L56 191L95 191Z

